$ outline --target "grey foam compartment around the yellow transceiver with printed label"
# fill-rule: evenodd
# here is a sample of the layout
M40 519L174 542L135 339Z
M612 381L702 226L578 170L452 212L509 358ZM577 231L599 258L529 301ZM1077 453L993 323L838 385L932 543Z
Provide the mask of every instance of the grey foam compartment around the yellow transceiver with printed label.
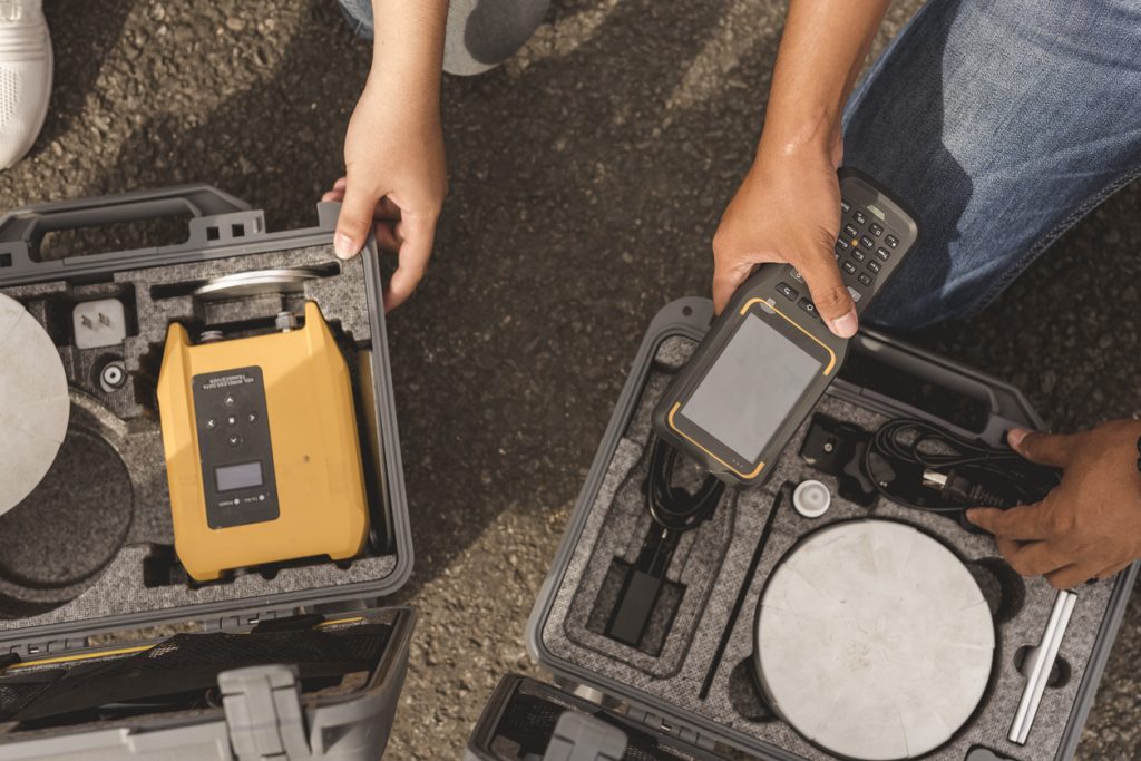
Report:
M0 632L42 624L88 622L108 616L169 612L203 602L264 599L285 592L335 590L347 584L379 582L397 567L395 550L385 542L370 547L350 562L283 564L281 567L235 574L220 583L192 585L173 574L165 578L173 543L167 470L159 428L155 383L169 325L186 324L192 333L204 326L225 326L227 338L264 332L273 327L283 309L300 311L305 301L315 301L338 337L349 366L356 394L358 432L365 479L370 483L373 524L388 520L382 465L373 462L369 438L372 398L361 388L358 361L372 347L364 259L339 261L331 245L316 245L267 253L243 254L209 261L143 268L116 273L105 282L71 283L65 280L11 286L3 293L19 300L41 322L57 345L71 388L72 414L68 435L76 440L97 439L112 453L102 460L74 458L74 469L52 472L38 492L50 487L54 505L43 520L43 510L32 510L29 500L0 518L0 534L24 535L52 532L43 548L24 551L0 568ZM191 291L203 282L229 273L282 267L317 267L323 276L307 281L304 291L288 294L242 297L222 301L195 299ZM127 305L128 337L120 346L78 349L71 342L71 311L78 301L119 298ZM110 359L124 363L129 381L106 391L92 372ZM379 423L377 423L379 424ZM115 463L114 460L119 462ZM102 465L95 463L102 462ZM111 467L107 463L111 462ZM83 464L88 463L88 464ZM57 463L58 464L58 463ZM119 483L118 464L127 478ZM106 486L103 493L98 487ZM126 494L126 496L124 496ZM37 493L33 493L35 496ZM111 496L115 495L115 496ZM99 499L114 499L114 509L75 510ZM121 513L128 499L127 519ZM31 500L31 497L30 497ZM34 515L33 515L34 513ZM114 513L114 520L111 515ZM110 551L108 549L110 548ZM67 551L83 552L78 564ZM105 560L90 557L106 552ZM8 558L6 558L8 559ZM16 565L18 568L9 568ZM71 564L76 569L68 570ZM187 614L193 615L193 614Z

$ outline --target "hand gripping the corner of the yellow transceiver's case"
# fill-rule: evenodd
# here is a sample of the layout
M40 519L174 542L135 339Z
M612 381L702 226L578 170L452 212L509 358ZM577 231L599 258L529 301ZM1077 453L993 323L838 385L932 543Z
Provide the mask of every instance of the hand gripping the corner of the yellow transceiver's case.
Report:
M386 81L383 73L370 76L345 137L346 176L322 197L342 204L337 256L356 256L370 228L381 251L398 254L385 288L386 311L407 299L423 277L447 193L438 104L402 96L402 84Z

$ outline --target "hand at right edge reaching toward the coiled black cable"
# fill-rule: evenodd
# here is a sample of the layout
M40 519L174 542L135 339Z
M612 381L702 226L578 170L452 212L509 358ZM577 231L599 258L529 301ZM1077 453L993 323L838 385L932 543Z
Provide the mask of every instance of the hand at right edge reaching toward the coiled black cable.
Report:
M1023 576L1055 589L1109 578L1141 557L1141 421L1116 420L1081 434L1013 429L1006 438L1030 462L1062 468L1062 481L1037 504L974 508L968 519L995 535Z

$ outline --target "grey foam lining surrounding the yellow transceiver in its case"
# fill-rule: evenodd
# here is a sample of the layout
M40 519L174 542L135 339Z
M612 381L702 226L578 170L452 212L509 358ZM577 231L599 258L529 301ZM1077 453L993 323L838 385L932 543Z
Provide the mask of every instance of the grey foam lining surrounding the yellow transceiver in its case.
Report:
M233 259L213 259L200 262L123 270L114 277L114 283L71 286L62 281L11 286L3 293L19 299L30 311L42 318L44 300L51 298L88 298L89 293L106 293L124 285L133 286L138 314L138 334L129 335L123 346L123 359L128 372L147 377L156 375L167 329L176 321L194 321L194 299L191 296L154 299L151 289L171 283L207 281L229 273L268 269L278 267L305 267L339 261L331 245L317 245L280 252L246 254ZM340 262L339 275L309 281L305 292L294 294L298 300L314 300L332 325L340 325L358 347L371 345L367 299L365 297L364 262L355 257ZM94 291L92 291L94 289ZM243 299L256 309L253 317L273 317L276 310L265 313L272 305L262 297ZM235 317L241 316L242 301L227 303ZM68 313L70 314L70 313ZM70 347L62 347L66 354ZM114 347L108 347L114 351ZM153 366L148 363L155 363ZM356 373L349 362L350 372ZM154 378L151 379L152 381ZM130 386L130 383L128 384ZM167 608L219 602L244 598L259 598L282 592L309 589L335 588L358 582L382 580L397 566L394 554L357 558L347 568L333 562L314 564L277 569L272 578L258 573L235 575L225 583L189 588L184 584L146 586L143 578L143 560L152 552L153 545L171 544L173 541L170 519L170 497L167 485L167 467L163 456L162 434L157 426L157 412L153 399L143 405L133 405L130 415L122 419L118 411L92 396L72 389L71 426L98 434L119 453L130 472L133 488L133 516L127 539L118 556L102 572L74 584L76 593L71 601L51 610L26 617L8 617L0 602L0 631L23 629L42 624L59 624L73 621L161 610ZM147 407L146 405L152 405ZM362 447L364 447L362 442ZM362 450L364 454L364 448ZM365 458L367 463L367 458ZM96 478L97 475L92 475ZM88 479L76 478L74 488L83 489ZM71 531L100 531L97 517L76 520ZM65 529L66 531L66 529ZM42 558L43 564L58 562L58 558ZM13 582L0 577L0 598ZM62 590L44 592L44 599L60 599ZM34 601L35 590L19 588L19 598Z

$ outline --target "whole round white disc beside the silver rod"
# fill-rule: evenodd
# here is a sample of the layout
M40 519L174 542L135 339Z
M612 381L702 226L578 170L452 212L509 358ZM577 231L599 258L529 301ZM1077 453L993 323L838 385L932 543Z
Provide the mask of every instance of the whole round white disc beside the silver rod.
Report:
M756 626L772 709L852 759L913 758L950 739L994 659L994 621L970 570L890 520L810 534L769 578Z

